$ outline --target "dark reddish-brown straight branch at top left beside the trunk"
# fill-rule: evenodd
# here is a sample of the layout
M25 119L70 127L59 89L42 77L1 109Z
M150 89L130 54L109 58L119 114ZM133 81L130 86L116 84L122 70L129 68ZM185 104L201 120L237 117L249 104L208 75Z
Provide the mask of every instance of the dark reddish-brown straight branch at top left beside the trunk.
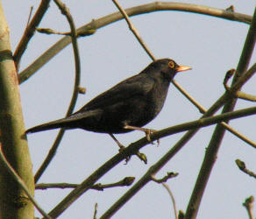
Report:
M36 27L41 22L42 18L44 17L48 7L49 7L50 0L42 0L41 4L39 5L38 11L36 11L35 15L32 18L30 25L25 28L25 32L23 34L22 39L19 41L18 46L13 54L13 60L16 63L16 67L18 67L19 61L25 53L26 46L28 45L30 39L34 35Z

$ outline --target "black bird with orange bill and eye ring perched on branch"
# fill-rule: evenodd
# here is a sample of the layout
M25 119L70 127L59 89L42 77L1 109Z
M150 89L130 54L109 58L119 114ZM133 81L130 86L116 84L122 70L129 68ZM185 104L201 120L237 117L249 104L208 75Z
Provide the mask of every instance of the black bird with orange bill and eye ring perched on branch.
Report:
M179 66L174 60L155 60L139 74L96 96L74 114L25 132L80 128L108 133L116 141L113 134L132 130L145 131L149 136L150 130L141 127L160 113L175 74L189 69L191 67Z

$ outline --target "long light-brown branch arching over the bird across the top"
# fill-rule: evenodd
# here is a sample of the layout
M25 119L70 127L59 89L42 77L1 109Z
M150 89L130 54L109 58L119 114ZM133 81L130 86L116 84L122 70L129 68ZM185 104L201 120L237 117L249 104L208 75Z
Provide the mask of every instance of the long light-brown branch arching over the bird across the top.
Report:
M132 7L125 10L127 15L132 17L136 15L148 14L154 11L188 11L203 15L213 16L215 18L224 18L232 21L243 22L245 24L250 24L252 21L252 16L229 12L222 9L211 8L208 6L198 5L198 4L182 4L182 3L168 3L168 2L156 2L151 4L142 4L136 7ZM124 16L120 12L116 12L110 15L107 15L103 18L93 19L89 24L83 25L77 30L78 36L80 33L84 33L82 36L89 36L92 33L96 32L97 29L100 29L106 25L115 23L118 20L123 19ZM71 42L71 39L64 37L60 39L57 43L51 46L45 53L43 53L37 60L34 60L33 63L26 67L19 74L19 83L26 81L30 78L40 67L44 66L47 61L51 60L53 56L68 46Z

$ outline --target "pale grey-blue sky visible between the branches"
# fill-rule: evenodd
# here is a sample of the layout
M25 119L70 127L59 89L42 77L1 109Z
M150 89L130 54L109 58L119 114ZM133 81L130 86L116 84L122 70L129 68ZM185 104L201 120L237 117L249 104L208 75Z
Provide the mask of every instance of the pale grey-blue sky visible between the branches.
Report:
M92 19L102 18L117 11L112 1L63 1L75 20L76 27L88 24ZM235 11L252 15L255 1L180 1L181 3L203 4L226 9L231 4ZM120 0L124 8L152 1ZM39 1L3 1L4 12L11 31L13 51L21 38L30 7L34 11ZM178 74L175 80L185 88L203 107L209 108L224 93L222 84L227 70L237 67L249 25L181 11L160 11L132 18L146 45L157 58L172 58L181 65L193 67L192 71ZM53 2L43 18L41 28L68 32L66 18L60 14ZM20 70L52 46L60 36L36 33L22 58ZM124 21L105 26L94 35L78 39L81 54L81 86L86 95L79 95L75 110L90 99L133 74L139 73L151 59L139 46ZM252 56L251 65L256 60ZM46 66L20 86L25 126L64 117L71 99L75 77L72 46L50 60ZM255 94L255 78L243 88L246 93ZM236 109L254 106L252 102L239 100ZM201 117L200 112L181 93L170 86L167 101L160 115L146 127L160 130L174 124L181 124ZM246 137L255 140L255 116L231 122ZM191 191L203 161L205 148L210 142L214 126L199 131L192 140L171 159L157 174L163 177L167 172L179 176L168 180L178 209L186 210ZM32 155L33 170L36 172L53 144L57 131L45 131L28 137ZM105 174L100 183L111 183L125 176L135 176L136 181L181 138L183 133L160 139L160 146L147 145L141 152L146 153L148 164L132 157L128 165L124 162ZM144 133L133 131L117 135L123 145L144 137ZM51 165L39 182L80 183L96 168L117 153L117 146L106 134L89 131L67 131ZM217 163L211 173L208 187L197 218L247 218L242 203L245 198L255 195L255 180L241 173L235 159L242 159L246 166L256 172L256 152L243 141L226 132L219 150ZM97 216L110 208L113 202L125 193L128 187L105 189L103 192L89 191L75 201L61 219L93 218L94 205L98 203ZM48 189L37 191L36 200L46 212L50 211L70 189ZM39 216L39 213L36 212ZM174 218L171 200L164 187L150 182L128 201L112 218Z

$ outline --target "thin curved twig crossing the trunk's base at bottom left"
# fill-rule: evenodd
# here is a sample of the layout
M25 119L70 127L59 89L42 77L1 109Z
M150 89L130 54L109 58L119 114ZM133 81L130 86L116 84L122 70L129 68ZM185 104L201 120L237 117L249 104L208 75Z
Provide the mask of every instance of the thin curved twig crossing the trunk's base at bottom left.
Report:
M18 174L15 172L15 170L11 167L11 165L9 164L9 162L7 161L7 159L5 159L4 157L4 153L2 151L2 145L0 145L0 159L3 162L6 170L12 175L13 179L16 180L18 182L18 185L20 187L22 187L22 189L25 191L25 194L28 196L28 198L32 201L33 205L35 206L35 208L37 208L40 212L41 215L45 216L48 219L51 219L52 217L50 217L49 215L47 215L47 213L43 210L43 208L41 208L39 206L39 203L37 201L35 201L35 199L32 197L32 195L30 194L28 188L25 185L25 182L18 176Z

